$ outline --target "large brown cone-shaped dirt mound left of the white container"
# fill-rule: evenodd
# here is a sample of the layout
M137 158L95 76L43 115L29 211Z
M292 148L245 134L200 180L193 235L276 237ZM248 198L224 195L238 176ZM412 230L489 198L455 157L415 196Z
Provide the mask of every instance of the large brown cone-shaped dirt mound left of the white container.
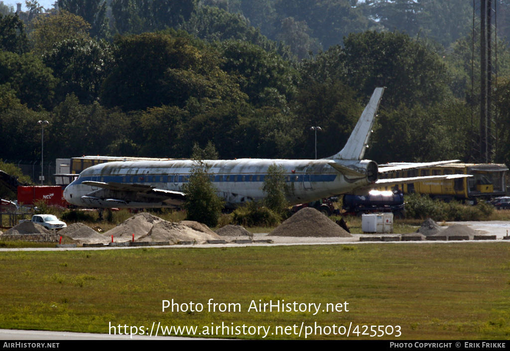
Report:
M294 237L351 237L337 223L314 208L297 211L269 235Z

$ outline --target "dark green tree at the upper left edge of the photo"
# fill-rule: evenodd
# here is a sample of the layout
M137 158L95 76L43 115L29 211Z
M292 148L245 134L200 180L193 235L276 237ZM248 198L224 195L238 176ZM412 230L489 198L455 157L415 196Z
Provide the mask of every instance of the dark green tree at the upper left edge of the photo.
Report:
M16 54L28 51L27 33L25 33L23 21L17 14L3 15L0 13L0 48Z

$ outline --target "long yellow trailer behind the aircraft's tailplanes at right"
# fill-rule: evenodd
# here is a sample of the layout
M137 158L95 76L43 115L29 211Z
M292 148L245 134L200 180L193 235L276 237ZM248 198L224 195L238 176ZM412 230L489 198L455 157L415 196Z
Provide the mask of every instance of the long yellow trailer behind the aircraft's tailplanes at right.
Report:
M381 179L424 177L428 175L471 174L473 177L450 180L429 180L410 184L399 184L404 194L427 194L444 200L489 199L506 194L508 167L504 164L449 163L409 171L381 174ZM381 187L379 190L392 190L395 187Z

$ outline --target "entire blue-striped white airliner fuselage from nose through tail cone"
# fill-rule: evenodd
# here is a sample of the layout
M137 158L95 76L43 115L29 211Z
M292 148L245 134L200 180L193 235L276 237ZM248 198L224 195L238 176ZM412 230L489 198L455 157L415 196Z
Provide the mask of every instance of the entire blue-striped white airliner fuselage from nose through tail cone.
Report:
M167 195L184 194L182 186L188 182L190 170L196 162L169 160L99 164L85 169L80 177L64 190L64 196L67 202L86 207L175 207L182 203L184 198ZM225 199L227 207L264 198L262 185L267 169L272 164L285 169L288 200L291 204L349 192L376 180L377 165L372 161L354 162L359 170L371 167L372 174L359 174L354 177L339 173L329 164L331 162L329 159L203 161L208 168L212 185L217 189L218 195ZM140 188L137 189L137 186Z

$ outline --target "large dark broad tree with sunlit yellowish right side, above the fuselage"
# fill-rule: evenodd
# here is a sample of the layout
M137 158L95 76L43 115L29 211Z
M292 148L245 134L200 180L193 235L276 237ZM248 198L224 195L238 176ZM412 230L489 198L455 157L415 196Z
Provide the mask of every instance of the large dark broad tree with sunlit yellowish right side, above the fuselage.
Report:
M106 79L103 103L124 111L162 105L184 108L190 100L211 108L245 98L234 79L219 68L209 45L187 33L144 33L118 38L116 65Z

